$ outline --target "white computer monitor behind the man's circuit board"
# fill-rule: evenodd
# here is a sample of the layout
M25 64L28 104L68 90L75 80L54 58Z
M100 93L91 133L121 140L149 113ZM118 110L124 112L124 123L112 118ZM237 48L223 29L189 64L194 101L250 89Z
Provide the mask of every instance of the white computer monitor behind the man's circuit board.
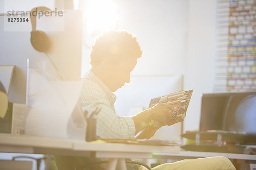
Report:
M183 75L131 75L130 82L118 89L115 109L119 116L133 116L148 108L150 100L183 90ZM186 119L186 118L185 118ZM180 142L182 123L163 126L151 139Z

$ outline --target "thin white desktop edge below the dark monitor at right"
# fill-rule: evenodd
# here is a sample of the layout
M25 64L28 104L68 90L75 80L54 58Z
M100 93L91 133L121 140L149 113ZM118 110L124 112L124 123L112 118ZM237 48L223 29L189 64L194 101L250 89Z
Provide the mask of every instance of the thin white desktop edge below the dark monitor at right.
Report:
M194 151L180 151L180 153L153 153L153 157L165 158L202 158L210 156L225 156L229 159L243 159L243 160L256 160L256 155L237 154L237 153L217 153L217 152L194 152Z

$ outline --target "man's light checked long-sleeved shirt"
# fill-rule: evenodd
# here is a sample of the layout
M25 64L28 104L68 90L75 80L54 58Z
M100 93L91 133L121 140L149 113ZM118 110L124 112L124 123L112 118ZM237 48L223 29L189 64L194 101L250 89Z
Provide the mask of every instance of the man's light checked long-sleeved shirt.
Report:
M94 82L85 81L81 92L82 110L90 114L101 108L97 116L96 135L102 139L134 138L135 125L131 117L119 117L112 108L108 96Z

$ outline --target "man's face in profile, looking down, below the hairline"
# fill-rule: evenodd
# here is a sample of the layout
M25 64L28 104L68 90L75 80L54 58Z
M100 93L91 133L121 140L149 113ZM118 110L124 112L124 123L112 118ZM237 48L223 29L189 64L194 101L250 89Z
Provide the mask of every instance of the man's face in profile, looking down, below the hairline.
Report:
M116 91L130 82L131 71L133 71L137 64L137 58L123 57L123 58L108 58L105 60L105 78L106 85L111 91Z

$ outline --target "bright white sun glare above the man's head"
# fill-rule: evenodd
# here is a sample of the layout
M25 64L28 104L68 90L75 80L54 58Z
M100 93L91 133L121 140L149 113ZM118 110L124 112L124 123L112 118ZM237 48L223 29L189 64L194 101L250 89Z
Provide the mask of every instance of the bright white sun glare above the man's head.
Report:
M117 9L111 0L90 0L85 14L87 31L91 34L117 27Z

